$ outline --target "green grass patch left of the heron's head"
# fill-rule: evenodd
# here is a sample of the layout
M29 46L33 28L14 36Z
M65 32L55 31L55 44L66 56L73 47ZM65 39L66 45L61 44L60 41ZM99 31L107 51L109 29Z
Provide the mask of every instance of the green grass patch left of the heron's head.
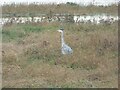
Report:
M56 30L57 26L43 26L43 25L32 25L32 24L21 24L12 25L10 27L3 27L2 35L3 42L19 41L29 36L30 33L39 33L45 30Z

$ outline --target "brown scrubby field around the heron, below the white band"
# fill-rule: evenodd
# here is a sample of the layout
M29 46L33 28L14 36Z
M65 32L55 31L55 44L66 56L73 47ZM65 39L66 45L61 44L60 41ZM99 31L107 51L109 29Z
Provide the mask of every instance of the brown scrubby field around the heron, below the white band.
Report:
M3 26L3 87L118 87L118 25L65 23L73 54L61 54L60 23Z

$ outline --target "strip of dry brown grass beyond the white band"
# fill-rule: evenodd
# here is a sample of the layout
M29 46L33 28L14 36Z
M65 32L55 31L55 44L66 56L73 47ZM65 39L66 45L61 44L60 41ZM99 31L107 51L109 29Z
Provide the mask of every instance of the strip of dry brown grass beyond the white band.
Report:
M64 13L70 13L70 14L100 14L100 13L106 13L110 15L118 15L118 6L111 5L108 7L97 7L97 6L87 6L82 7L78 5L67 5L67 4L30 4L30 5L24 5L24 4L14 4L11 5L4 5L2 6L2 13L4 14L16 14L17 16L36 16L39 14L64 14Z

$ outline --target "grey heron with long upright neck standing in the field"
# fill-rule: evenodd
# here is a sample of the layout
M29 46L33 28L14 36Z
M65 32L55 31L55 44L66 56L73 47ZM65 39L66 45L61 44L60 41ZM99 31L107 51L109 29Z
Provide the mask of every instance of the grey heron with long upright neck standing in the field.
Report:
M73 50L71 47L69 47L65 41L64 41L64 29L61 28L59 30L57 30L58 32L61 33L61 52L62 54L71 54L73 53Z

